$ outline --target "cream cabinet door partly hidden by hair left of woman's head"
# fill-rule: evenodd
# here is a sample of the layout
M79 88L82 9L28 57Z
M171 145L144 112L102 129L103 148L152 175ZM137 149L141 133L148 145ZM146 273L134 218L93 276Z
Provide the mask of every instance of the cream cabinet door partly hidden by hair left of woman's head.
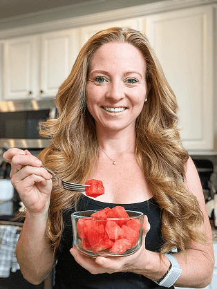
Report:
M41 97L55 96L68 77L78 54L77 30L63 30L41 35Z

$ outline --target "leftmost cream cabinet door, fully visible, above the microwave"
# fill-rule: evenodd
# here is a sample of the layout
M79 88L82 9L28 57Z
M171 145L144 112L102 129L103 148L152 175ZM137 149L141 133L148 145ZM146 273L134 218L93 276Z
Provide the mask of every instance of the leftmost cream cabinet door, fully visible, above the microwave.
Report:
M35 97L38 85L39 37L20 37L4 42L3 98Z

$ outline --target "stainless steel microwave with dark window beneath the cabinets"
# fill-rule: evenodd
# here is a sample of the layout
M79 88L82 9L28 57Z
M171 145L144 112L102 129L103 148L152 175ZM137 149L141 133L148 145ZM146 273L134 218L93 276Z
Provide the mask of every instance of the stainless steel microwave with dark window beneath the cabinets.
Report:
M53 99L0 102L0 148L44 149L41 125L57 116Z

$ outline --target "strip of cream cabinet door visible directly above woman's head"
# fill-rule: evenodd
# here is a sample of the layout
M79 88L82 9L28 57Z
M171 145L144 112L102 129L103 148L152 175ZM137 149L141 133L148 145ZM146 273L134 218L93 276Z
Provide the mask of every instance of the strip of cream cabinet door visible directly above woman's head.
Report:
M96 32L111 27L133 28L135 30L142 30L142 21L141 19L126 19L83 27L81 29L81 46L83 46L89 38L95 35Z

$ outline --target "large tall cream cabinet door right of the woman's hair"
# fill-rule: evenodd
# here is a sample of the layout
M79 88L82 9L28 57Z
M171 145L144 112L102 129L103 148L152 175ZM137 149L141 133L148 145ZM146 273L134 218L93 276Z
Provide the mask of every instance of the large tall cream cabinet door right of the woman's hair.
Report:
M178 100L185 149L214 149L213 10L211 6L151 15L146 34Z

